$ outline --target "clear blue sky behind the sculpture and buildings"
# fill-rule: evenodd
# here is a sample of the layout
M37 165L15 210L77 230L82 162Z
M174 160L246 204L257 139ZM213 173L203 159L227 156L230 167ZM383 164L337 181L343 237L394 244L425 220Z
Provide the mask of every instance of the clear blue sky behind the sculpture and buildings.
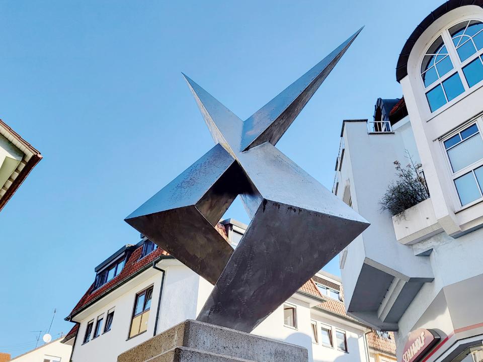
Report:
M1 1L0 118L44 159L0 214L0 351L54 308L66 333L94 267L139 240L124 217L212 147L182 71L245 119L365 25L277 145L330 189L342 120L401 96L397 56L441 3Z

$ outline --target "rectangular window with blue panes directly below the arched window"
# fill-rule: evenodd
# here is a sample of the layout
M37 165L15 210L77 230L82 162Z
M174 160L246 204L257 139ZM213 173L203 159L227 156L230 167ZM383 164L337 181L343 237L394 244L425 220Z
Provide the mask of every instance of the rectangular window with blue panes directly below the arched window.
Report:
M483 139L476 123L443 141L461 206L482 197Z

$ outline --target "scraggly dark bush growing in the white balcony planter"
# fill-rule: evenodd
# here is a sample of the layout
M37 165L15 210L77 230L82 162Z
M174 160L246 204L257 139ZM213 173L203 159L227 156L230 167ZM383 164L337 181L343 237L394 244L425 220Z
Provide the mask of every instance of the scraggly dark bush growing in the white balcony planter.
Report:
M389 211L391 215L405 217L405 211L429 198L426 179L420 163L415 163L413 157L406 151L409 163L403 167L399 161L394 161L397 179L389 184L385 194L379 201L380 210Z

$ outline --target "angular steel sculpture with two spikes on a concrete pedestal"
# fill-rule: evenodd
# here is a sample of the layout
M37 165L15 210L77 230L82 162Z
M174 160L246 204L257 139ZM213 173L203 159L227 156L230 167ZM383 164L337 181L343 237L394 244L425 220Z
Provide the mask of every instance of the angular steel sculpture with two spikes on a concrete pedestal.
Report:
M369 226L275 147L361 30L245 122L185 75L216 145L126 222L214 284L198 320L251 332ZM214 227L238 195L233 250Z

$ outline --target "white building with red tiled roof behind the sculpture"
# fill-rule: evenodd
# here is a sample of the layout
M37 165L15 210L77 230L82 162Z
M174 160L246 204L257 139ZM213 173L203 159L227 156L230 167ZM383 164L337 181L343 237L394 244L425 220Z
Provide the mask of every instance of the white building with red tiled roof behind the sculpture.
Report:
M235 247L246 225L230 219L217 228ZM212 289L145 238L118 250L96 272L66 318L76 323L64 339L73 346L74 362L114 362L127 349L196 319ZM327 273L309 280L253 333L302 345L310 361L370 362L365 336L372 331L345 314L340 279Z

